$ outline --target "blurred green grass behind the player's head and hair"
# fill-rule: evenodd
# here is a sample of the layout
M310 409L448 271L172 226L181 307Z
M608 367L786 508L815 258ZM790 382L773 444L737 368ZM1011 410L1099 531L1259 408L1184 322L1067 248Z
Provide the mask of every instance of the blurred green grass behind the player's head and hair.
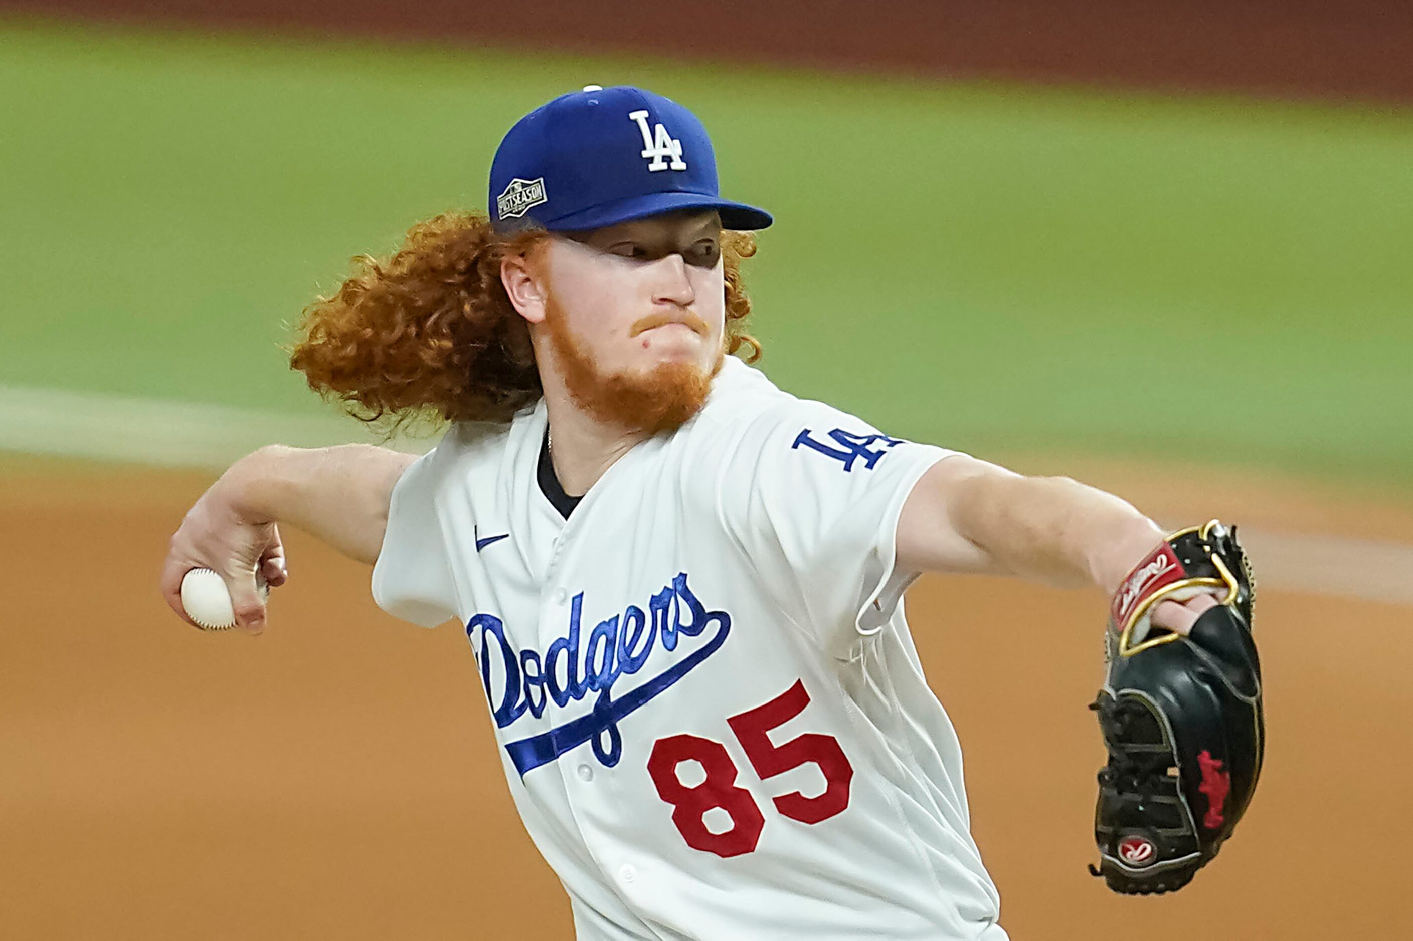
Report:
M972 449L1413 478L1413 113L0 21L0 384L322 408L285 324L588 82L776 213L763 367Z

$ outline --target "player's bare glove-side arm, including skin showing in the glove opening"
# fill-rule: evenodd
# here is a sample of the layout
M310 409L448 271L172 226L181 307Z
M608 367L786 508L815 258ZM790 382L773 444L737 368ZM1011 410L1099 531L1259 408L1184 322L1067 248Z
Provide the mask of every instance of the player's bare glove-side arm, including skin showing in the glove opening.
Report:
M897 565L1089 584L1112 595L1163 535L1153 520L1112 493L957 455L923 475L903 504ZM1153 620L1187 633L1195 613L1208 606L1205 598L1163 602Z

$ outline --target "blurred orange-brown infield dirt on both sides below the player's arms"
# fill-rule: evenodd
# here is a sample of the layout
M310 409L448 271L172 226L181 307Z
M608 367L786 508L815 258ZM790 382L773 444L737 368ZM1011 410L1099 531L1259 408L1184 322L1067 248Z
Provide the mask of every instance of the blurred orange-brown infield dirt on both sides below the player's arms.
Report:
M363 567L298 534L263 637L167 612L165 540L208 479L0 465L18 586L0 651L0 937L568 938L454 627L391 620ZM1390 743L1407 742L1410 609L1260 598L1260 790L1217 863L1157 900L1085 873L1098 609L982 578L909 595L1012 937L1406 931L1410 760Z

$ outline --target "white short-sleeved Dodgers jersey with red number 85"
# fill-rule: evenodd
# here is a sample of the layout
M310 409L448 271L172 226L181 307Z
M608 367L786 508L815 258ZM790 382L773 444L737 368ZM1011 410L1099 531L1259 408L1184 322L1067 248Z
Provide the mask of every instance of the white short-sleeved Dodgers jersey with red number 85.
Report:
M894 571L952 452L728 357L565 517L545 422L454 425L411 465L373 595L465 626L581 941L1006 938Z

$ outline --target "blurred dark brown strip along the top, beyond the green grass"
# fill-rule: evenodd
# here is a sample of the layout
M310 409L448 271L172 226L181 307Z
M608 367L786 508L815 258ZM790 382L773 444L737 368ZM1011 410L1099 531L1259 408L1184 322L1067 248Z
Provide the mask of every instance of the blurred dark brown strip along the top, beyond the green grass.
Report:
M1409 0L0 0L0 11L510 48L1413 102Z

